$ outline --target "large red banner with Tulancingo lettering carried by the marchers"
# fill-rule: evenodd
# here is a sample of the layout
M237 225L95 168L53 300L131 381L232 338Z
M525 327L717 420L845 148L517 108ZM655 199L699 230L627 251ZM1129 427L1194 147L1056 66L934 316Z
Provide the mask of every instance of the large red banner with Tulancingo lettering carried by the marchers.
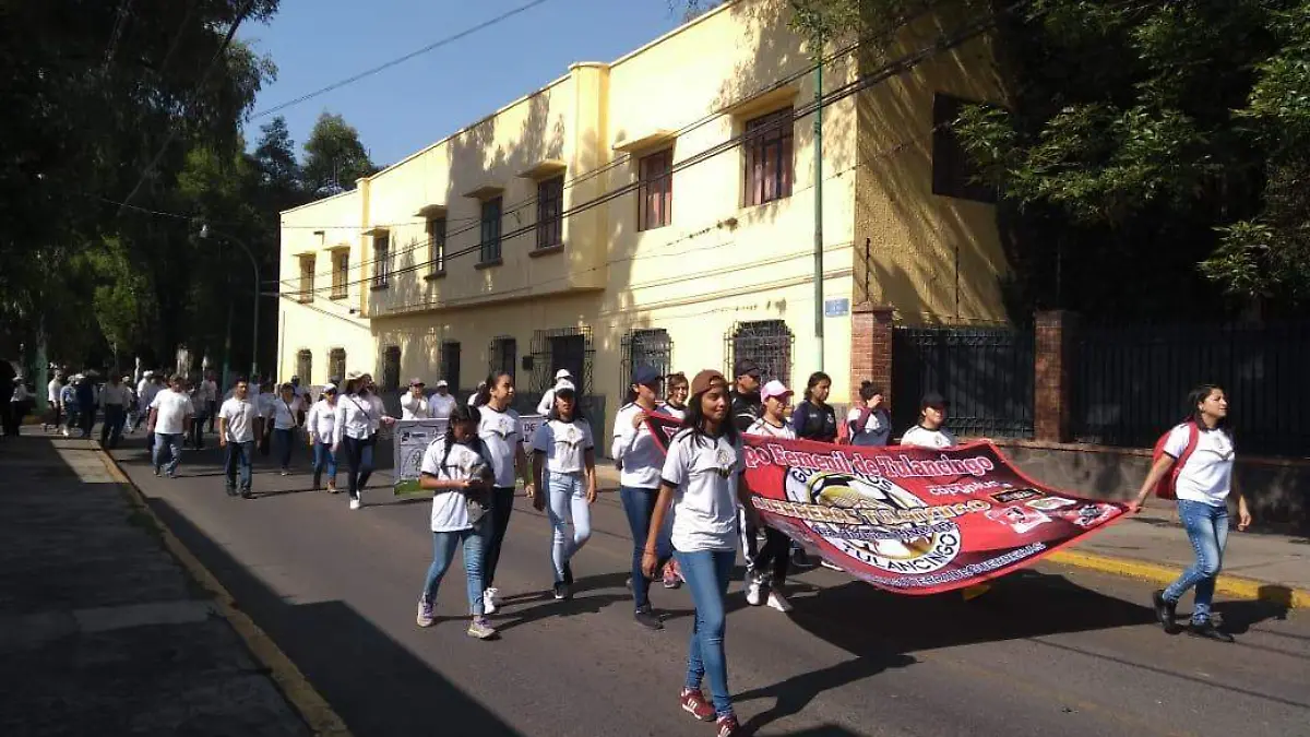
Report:
M651 416L650 429L667 447L677 425ZM1127 511L1044 487L985 442L945 450L744 442L747 483L766 525L900 594L1003 576Z

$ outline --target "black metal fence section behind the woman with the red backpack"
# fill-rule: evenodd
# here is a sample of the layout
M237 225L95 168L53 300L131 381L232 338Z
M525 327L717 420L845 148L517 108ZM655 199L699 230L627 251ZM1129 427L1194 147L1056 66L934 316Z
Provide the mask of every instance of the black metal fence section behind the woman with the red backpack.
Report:
M1083 325L1073 375L1077 439L1150 447L1197 384L1225 388L1239 451L1310 455L1310 321Z

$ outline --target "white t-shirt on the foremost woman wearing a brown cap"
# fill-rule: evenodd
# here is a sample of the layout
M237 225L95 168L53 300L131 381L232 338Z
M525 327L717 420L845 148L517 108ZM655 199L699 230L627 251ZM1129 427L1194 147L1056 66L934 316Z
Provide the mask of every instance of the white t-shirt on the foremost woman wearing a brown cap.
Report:
M673 435L660 473L673 485L673 547L683 552L736 547L738 484L745 472L740 441Z

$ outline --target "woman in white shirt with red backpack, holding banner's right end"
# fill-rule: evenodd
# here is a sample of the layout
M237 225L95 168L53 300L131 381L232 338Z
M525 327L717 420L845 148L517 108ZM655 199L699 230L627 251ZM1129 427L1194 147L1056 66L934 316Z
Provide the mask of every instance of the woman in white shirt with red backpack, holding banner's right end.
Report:
M1187 528L1187 538L1196 552L1196 563L1169 585L1155 591L1155 618L1166 632L1175 632L1175 607L1188 589L1196 589L1196 606L1187 628L1189 635L1231 643L1233 636L1210 622L1210 602L1214 599L1214 581L1224 567L1224 548L1227 544L1227 498L1237 494L1238 530L1251 525L1251 510L1246 497L1235 489L1233 476L1234 446L1227 429L1227 397L1214 384L1201 384L1187 397L1192 414L1186 422L1170 430L1163 454L1151 466L1137 498L1129 505L1141 511L1153 489L1166 473L1174 473L1174 493L1178 497L1178 517ZM1175 464L1178 468L1175 469Z

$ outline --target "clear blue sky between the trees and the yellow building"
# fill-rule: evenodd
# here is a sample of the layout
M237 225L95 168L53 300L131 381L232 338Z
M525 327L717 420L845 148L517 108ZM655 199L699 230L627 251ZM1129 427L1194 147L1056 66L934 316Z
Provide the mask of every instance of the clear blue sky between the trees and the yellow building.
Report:
M500 16L528 0L282 0L267 25L238 38L272 58L246 123L358 72L403 56ZM359 129L375 164L396 163L498 108L563 76L575 62L610 62L676 28L669 0L545 0L487 29L276 114L287 118L296 153L322 111Z

